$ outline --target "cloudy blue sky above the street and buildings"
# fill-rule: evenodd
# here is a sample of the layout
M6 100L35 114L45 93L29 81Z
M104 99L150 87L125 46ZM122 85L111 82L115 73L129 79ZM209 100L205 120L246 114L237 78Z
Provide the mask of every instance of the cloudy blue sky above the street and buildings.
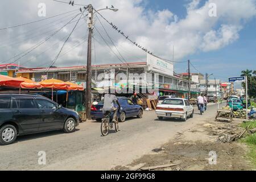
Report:
M46 16L38 15L39 3L46 5ZM159 57L191 60L196 67L191 67L191 72L209 73L213 74L210 78L227 81L230 76L240 76L242 70L256 69L256 0L77 0L75 3L92 3L96 10L113 5L119 10L101 11L102 16ZM214 13L213 5L216 14L210 16L209 12ZM80 13L79 7L52 0L2 0L0 64L51 65L80 16L44 40ZM113 30L101 16L94 19L92 64L146 61L146 53ZM1 30L35 20L42 21ZM81 19L54 65L85 65L87 36L86 20ZM176 73L188 69L187 63L175 63L174 68Z

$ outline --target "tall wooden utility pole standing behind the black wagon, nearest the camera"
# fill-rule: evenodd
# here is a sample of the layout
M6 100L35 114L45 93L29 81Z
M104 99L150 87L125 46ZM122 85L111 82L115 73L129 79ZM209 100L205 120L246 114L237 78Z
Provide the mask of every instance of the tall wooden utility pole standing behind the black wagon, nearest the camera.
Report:
M90 117L90 107L92 102L92 30L93 30L93 8L92 5L88 5L88 20L87 20L89 34L88 34L88 49L87 49L87 67L86 67L86 91L85 91L85 103L86 103L86 118Z

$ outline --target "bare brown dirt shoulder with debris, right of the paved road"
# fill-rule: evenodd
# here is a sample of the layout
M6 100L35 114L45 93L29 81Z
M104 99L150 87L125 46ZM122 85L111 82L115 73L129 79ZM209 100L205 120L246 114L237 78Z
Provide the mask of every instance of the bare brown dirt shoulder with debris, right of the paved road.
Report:
M170 142L152 149L150 154L134 160L127 166L117 166L114 170L129 170L134 166L161 166L177 164L173 167L158 168L155 170L253 170L253 164L246 159L249 148L241 142L224 143L220 141L221 133L242 133L241 119L234 119L232 123L205 121L192 129L177 133ZM210 164L209 152L216 152L217 164ZM210 158L210 159L209 159ZM141 164L141 165L139 165ZM144 164L144 165L143 165Z

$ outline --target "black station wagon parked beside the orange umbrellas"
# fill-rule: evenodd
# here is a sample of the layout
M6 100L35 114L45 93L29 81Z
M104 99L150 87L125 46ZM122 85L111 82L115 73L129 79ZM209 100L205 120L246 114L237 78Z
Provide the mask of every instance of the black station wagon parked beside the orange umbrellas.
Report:
M18 135L64 130L79 125L76 111L35 94L0 94L0 144L11 144Z

